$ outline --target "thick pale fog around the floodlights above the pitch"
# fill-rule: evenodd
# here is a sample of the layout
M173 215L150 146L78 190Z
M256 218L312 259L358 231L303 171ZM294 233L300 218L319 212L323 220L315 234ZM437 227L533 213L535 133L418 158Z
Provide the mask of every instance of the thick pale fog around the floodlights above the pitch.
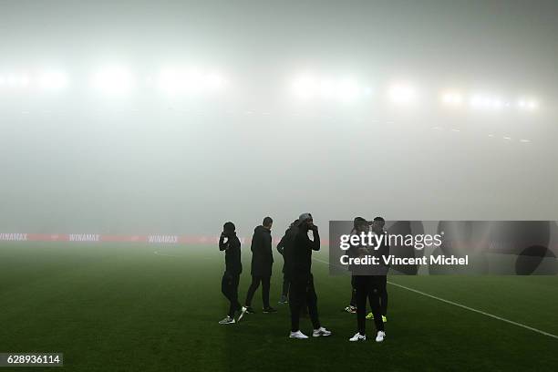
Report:
M0 1L0 233L248 235L388 220L556 220L555 1ZM107 64L127 94L91 88ZM219 71L215 94L165 95L160 68ZM300 74L351 76L349 102L301 99ZM6 75L8 74L8 75ZM417 87L413 105L386 98ZM446 88L512 105L459 109ZM469 96L467 96L469 97Z

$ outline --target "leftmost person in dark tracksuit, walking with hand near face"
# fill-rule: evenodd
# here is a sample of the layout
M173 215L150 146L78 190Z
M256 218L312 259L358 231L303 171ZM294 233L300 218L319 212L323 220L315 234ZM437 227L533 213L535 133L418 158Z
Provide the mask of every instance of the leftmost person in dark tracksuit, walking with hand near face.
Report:
M230 325L236 323L234 315L237 311L241 310L241 305L238 302L238 284L240 282L240 274L243 272L241 243L236 236L233 222L226 222L223 225L221 237L219 238L219 250L225 252L225 272L222 275L221 291L231 302L229 313L219 324Z

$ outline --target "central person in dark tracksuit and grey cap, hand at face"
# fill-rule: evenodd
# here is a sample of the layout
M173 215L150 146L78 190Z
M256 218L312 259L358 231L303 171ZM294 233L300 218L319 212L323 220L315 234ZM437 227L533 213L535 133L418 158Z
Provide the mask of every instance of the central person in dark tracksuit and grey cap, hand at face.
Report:
M308 233L312 231L314 240ZM317 311L317 295L315 294L314 276L312 275L312 251L320 250L320 235L310 213L303 213L297 222L294 243L287 249L286 260L288 275L291 281L289 290L289 307L291 310L290 338L308 338L300 331L300 310L306 301L308 313L314 326L312 336L330 336L331 332L320 324Z

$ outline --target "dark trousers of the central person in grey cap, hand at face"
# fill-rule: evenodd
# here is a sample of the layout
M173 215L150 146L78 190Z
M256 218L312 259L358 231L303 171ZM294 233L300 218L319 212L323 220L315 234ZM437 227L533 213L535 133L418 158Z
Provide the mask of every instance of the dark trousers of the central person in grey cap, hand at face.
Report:
M314 277L292 277L289 288L289 307L291 309L291 331L300 330L300 312L304 305L308 306L308 314L314 329L318 329L320 321L317 313L317 295L314 288Z

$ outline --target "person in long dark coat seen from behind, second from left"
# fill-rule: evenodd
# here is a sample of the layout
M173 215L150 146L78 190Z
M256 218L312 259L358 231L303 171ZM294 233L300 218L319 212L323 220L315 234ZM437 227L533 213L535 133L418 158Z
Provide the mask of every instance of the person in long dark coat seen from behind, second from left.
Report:
M274 253L272 252L271 228L274 221L271 217L265 217L262 225L253 231L252 245L252 284L248 288L243 313L255 313L252 308L253 294L262 283L263 313L274 313L275 310L269 305L269 288L271 285L272 266L274 264Z

